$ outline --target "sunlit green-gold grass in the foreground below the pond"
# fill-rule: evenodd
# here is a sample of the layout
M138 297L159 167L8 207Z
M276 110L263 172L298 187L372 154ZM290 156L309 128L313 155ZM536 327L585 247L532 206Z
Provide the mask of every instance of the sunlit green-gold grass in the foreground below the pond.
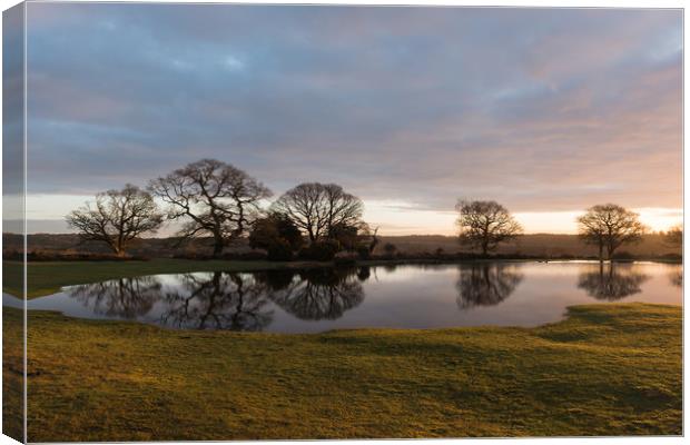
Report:
M681 320L679 306L592 305L536 328L282 335L32 312L28 438L680 435ZM20 323L4 308L8 388Z

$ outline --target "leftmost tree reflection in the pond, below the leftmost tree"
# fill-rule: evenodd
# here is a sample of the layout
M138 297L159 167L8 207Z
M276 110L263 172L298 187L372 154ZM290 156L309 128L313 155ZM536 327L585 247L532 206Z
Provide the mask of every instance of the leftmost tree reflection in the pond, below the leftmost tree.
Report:
M73 286L69 295L93 314L134 319L151 310L160 298L160 283L154 277L120 278Z

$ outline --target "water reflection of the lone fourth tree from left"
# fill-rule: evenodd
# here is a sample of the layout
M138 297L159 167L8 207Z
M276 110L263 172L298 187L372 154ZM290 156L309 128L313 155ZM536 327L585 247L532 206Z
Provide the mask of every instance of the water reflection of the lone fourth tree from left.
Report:
M469 264L460 266L457 279L457 307L493 306L507 298L524 275L518 266L493 264Z

